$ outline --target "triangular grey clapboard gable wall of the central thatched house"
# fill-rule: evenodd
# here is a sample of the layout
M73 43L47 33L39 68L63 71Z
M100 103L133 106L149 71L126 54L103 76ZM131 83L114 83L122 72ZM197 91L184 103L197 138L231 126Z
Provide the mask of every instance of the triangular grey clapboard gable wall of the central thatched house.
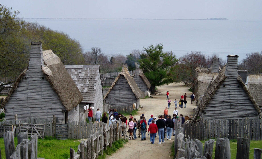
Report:
M139 100L136 99L135 94L132 92L131 87L123 75L119 77L118 81L106 97L106 103L112 106L128 105L132 107L132 104L136 103L137 101Z

